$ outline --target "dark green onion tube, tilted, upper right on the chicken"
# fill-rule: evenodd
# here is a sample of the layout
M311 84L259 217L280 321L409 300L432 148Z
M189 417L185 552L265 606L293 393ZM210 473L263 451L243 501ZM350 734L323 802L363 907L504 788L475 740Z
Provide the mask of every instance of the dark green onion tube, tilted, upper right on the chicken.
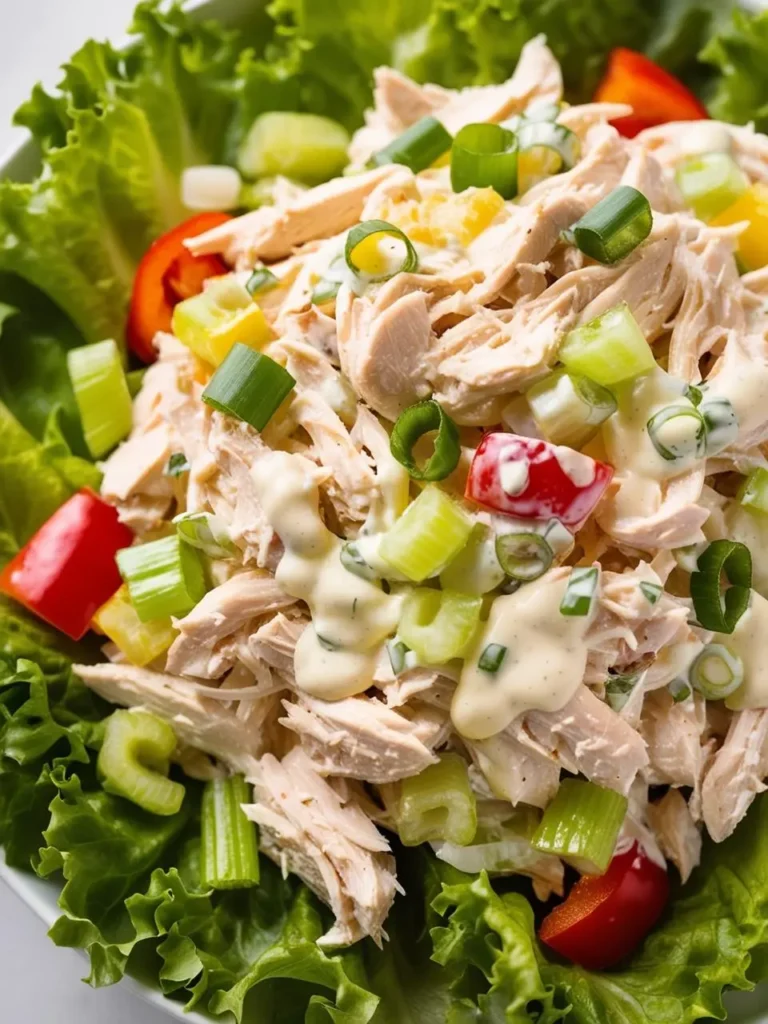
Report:
M620 185L570 228L585 256L610 266L644 242L653 226L650 203L631 185Z

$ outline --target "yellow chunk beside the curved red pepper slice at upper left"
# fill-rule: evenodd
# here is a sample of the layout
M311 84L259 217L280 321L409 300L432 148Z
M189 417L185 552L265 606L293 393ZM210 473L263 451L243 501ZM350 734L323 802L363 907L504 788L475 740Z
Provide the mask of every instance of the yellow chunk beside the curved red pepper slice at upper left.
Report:
M172 328L182 344L213 367L238 342L259 348L271 337L264 314L233 273L211 279L200 295L179 302Z

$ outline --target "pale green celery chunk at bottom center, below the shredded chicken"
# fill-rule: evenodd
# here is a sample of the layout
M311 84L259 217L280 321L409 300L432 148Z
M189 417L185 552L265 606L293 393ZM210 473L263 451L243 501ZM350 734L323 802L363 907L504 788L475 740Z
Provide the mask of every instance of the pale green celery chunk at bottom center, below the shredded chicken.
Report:
M477 808L464 759L443 754L437 764L404 778L396 817L403 846L440 840L468 846L477 830Z

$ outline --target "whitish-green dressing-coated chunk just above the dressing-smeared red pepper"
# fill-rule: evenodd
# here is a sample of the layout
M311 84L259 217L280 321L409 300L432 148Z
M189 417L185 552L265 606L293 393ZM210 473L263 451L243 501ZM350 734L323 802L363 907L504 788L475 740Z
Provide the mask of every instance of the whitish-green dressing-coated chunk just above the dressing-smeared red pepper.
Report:
M581 449L616 411L616 400L601 384L566 370L539 381L525 398L536 424L553 444Z

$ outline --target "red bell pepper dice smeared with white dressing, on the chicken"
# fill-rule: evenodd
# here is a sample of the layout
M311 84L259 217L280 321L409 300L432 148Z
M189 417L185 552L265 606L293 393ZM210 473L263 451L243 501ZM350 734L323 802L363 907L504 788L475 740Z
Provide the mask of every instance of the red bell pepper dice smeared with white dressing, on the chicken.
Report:
M519 467L516 474L509 473L509 463ZM505 490L509 475L516 476L518 485ZM466 497L504 515L559 519L575 530L589 518L612 477L610 466L572 449L517 434L489 433L472 460Z

